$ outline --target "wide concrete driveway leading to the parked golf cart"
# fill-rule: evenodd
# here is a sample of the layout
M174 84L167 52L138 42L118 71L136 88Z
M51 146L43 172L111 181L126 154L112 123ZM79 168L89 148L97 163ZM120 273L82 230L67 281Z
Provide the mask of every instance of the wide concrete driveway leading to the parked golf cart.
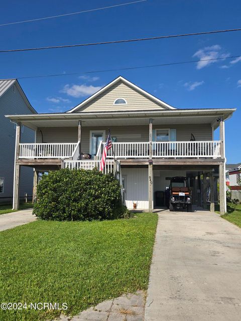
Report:
M146 321L240 321L241 229L215 213L163 211Z

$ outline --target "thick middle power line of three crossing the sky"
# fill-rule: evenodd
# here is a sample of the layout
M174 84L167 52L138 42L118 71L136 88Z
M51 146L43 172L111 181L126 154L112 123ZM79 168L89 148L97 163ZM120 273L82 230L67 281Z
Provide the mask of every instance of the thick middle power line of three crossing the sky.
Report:
M77 44L77 45L63 45L63 46L49 46L49 47L37 47L37 48L25 48L25 49L0 50L0 53L3 53L3 52L17 52L17 51L45 50L45 49L58 49L58 48L70 48L70 47L86 47L86 46L107 45L107 44L119 44L119 43L137 42L137 41L145 41L145 40L156 40L156 39L165 39L165 38L177 38L177 37L187 37L187 36L209 35L209 34L217 34L217 33L231 32L231 31L241 31L241 28L238 28L238 29L227 29L227 30L216 30L216 31L206 31L206 32L198 32L198 33L192 33L192 34L180 34L180 35L158 36L158 37L150 37L150 38L138 38L138 39L95 42L95 43Z

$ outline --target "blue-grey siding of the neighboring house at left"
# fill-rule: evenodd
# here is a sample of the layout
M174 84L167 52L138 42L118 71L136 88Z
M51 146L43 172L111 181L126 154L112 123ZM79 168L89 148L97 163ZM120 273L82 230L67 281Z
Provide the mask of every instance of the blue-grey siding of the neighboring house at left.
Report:
M0 198L11 198L13 196L14 179L14 155L15 155L15 125L5 117L6 114L29 114L30 109L26 105L17 86L15 92L10 87L0 97L0 177L5 178L4 193ZM34 131L24 127L21 142L33 142ZM33 192L33 169L22 168L20 176L20 197L25 193L32 195ZM0 199L1 200L1 199Z

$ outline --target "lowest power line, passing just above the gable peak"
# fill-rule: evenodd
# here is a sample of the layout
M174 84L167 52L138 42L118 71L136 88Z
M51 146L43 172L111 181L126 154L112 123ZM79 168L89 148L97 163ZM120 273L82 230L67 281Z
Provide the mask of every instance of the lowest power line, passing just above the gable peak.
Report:
M17 77L17 79L59 77L59 76L69 76L69 75L84 75L84 74L93 74L93 73L110 72L110 71L122 71L122 70L131 70L131 69L143 69L143 68L154 68L154 67L164 67L164 66L172 66L172 65L190 64L190 63L195 63L195 62L200 62L200 61L234 59L234 58L239 58L239 57L241 57L241 56L230 56L230 57L226 57L226 58L212 58L212 59L179 61L179 62L171 62L171 63L158 64L158 65L146 65L146 66L125 67L125 68L116 68L116 69L92 70L92 71L85 71L85 72L73 72L73 73L62 73L62 74L52 74L52 75Z

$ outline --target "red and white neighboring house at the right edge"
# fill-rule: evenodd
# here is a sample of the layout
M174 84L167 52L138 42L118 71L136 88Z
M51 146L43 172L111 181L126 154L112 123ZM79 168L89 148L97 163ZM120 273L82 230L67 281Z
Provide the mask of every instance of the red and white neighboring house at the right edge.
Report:
M241 163L226 165L226 184L231 191L231 198L241 201Z

